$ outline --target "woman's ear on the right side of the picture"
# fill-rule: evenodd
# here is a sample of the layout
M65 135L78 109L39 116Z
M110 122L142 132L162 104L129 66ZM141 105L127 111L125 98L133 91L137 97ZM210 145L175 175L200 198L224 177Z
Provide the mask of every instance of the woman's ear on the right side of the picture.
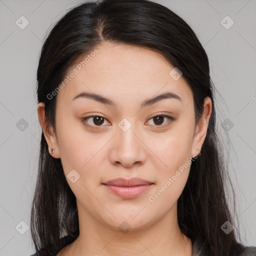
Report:
M201 147L203 141L206 136L209 118L211 114L211 99L209 97L204 98L204 107L203 107L202 117L199 119L198 124L195 127L193 142L192 142L192 155L191 157L195 157L201 151Z

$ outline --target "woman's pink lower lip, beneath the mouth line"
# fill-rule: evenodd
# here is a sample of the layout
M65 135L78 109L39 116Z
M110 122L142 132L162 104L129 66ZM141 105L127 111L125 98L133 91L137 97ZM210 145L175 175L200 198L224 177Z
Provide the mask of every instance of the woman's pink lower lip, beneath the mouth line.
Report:
M111 192L123 197L123 198L134 198L142 194L148 188L151 187L150 184L137 185L137 186L114 186L104 184Z

